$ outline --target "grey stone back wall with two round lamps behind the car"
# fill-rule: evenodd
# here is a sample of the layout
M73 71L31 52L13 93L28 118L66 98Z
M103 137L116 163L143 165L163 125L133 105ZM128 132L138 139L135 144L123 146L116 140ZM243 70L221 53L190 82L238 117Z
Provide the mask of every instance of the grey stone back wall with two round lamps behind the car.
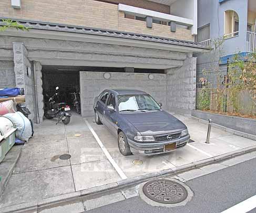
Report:
M157 102L167 109L166 74L153 74L154 79L148 78L148 73L111 72L110 79L104 78L104 72L80 72L81 115L93 116L94 98L104 89L139 89L148 92Z

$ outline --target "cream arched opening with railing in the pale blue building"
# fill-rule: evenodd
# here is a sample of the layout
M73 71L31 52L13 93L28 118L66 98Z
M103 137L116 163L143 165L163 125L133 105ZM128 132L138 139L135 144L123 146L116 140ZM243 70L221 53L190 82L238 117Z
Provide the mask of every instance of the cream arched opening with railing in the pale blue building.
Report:
M224 39L239 35L239 17L234 10L225 12L224 33Z

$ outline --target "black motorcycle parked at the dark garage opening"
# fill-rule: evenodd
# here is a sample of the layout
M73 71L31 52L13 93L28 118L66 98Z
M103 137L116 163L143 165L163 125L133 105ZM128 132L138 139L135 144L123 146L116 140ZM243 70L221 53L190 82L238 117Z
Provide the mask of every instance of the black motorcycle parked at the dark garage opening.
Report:
M60 121L62 121L65 125L70 122L70 106L67 105L66 103L56 103L55 99L58 97L59 92L58 87L55 88L56 92L55 94L49 98L48 103L45 108L45 118L46 119L53 119L57 118L58 124Z

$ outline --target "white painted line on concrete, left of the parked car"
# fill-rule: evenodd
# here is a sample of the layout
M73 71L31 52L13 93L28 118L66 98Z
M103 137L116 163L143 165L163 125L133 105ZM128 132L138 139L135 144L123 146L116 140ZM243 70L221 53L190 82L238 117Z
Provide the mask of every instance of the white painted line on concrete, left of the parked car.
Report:
M91 127L91 125L89 124L89 122L85 120L85 123L87 124L89 130L91 131L91 133L93 134L95 140L97 141L97 143L99 144L101 150L104 152L104 154L106 155L106 157L108 158L109 162L112 164L112 166L116 169L117 173L119 174L119 176L122 179L127 179L127 176L125 175L124 172L122 172L122 169L117 165L117 163L114 161L114 159L111 157L111 155L109 154L109 152L107 151L106 147L103 145L103 143L100 141L98 135L96 134L96 132L94 131L93 127Z

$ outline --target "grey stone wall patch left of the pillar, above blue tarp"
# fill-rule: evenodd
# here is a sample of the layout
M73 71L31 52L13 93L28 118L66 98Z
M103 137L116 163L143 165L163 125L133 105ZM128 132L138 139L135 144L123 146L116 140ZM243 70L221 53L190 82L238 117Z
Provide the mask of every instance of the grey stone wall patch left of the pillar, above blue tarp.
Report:
M0 61L0 89L15 87L15 84L13 61Z

